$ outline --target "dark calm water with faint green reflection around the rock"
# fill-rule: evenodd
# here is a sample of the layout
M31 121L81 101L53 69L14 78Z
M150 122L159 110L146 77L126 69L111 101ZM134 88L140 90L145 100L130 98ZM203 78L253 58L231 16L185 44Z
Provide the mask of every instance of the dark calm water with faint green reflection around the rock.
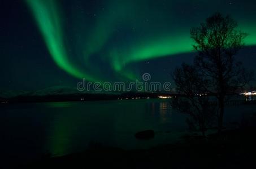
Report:
M120 100L1 104L1 145L6 158L29 160L42 154L80 152L92 145L148 148L177 141L186 131L185 115L170 100ZM226 121L255 113L256 105L229 106ZM137 140L134 133L153 129L155 138Z

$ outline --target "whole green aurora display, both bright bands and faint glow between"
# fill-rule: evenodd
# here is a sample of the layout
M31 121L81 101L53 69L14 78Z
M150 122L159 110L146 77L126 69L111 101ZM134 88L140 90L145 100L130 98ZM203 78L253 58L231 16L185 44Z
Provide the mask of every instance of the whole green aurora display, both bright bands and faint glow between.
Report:
M79 18L74 19L75 21L70 23L69 27L73 26L79 32L79 35L75 37L74 47L73 42L67 42L69 38L64 31L66 22L63 22L65 10L60 10L62 8L59 1L26 0L25 2L32 11L55 63L73 77L98 82L106 81L107 78L102 75L101 65L95 63L93 58L108 65L110 71L119 79L138 79L136 71L128 69L127 65L158 57L192 52L189 28L197 26L206 16L210 15L199 17L199 21L180 24L177 23L179 17L175 17L175 11L172 12L171 8L163 11L153 10L148 6L144 7L147 2L145 0L140 2L106 1L105 7L101 10L97 9L94 14L97 17L94 19L74 12L75 16ZM175 6L175 2L177 1L170 1L168 5ZM201 2L204 1L201 0ZM214 9L209 12L211 11L215 12ZM149 20L153 20L153 24L144 20L145 16ZM249 37L245 40L246 45L256 45L256 24L239 18L239 14L234 14L234 16L240 24L240 28L249 33ZM122 28L127 28L128 32L137 38L128 37L123 40L122 37L116 35L118 34L116 30L120 29L120 25ZM188 29L180 29L181 27ZM138 33L136 34L136 32ZM116 42L113 39L118 40ZM125 41L125 44L122 41ZM72 47L75 48L76 54L68 52L68 49Z

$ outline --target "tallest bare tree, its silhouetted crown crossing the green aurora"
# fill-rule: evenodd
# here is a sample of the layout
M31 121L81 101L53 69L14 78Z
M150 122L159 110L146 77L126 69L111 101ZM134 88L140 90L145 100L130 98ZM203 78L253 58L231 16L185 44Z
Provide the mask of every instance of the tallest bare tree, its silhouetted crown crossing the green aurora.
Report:
M222 130L225 96L250 81L252 73L246 72L235 55L244 46L246 33L237 30L237 23L230 16L216 13L198 28L190 30L194 49L198 52L194 60L199 77L207 93L218 99L218 131Z

